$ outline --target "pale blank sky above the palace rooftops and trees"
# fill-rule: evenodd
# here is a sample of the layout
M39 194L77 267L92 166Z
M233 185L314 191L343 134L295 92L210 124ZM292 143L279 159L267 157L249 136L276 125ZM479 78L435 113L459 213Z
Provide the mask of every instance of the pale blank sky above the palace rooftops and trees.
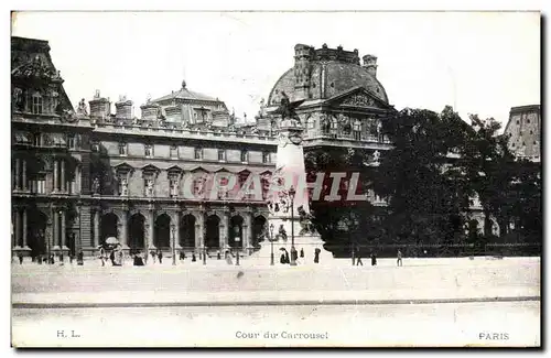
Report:
M505 127L510 107L540 104L538 12L19 12L12 35L50 42L75 107L99 89L138 117L185 79L251 120L298 43L376 55L397 109L451 105Z

